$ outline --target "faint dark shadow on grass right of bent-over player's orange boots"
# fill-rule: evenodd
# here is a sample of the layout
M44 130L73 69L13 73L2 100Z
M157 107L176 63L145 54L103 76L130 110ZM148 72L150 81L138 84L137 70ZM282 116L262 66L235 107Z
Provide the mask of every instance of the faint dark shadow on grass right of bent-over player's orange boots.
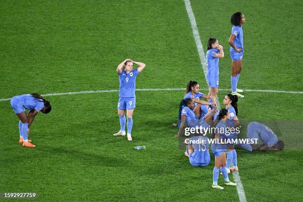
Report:
M53 155L56 158L61 158L62 161L75 161L81 164L98 165L103 167L125 167L131 166L130 162L122 160L120 158L108 157L101 154L92 154L81 152L78 150L68 150L65 148L36 148L41 152L45 152L48 155ZM51 157L51 156L50 156Z

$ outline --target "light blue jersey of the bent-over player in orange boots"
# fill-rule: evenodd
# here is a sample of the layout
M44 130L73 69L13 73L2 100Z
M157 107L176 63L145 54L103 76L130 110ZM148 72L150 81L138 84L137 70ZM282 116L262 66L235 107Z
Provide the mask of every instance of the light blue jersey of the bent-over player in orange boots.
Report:
M43 100L35 99L30 94L15 96L10 100L10 104L16 114L25 112L25 109L39 112L44 107Z

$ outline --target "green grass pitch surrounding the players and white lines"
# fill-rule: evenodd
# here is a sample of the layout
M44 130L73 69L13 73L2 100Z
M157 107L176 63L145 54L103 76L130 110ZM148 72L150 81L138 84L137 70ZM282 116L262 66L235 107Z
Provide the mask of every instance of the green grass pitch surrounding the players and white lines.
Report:
M224 47L220 88L230 88L229 21L240 10L247 22L239 86L303 91L302 1L191 3L204 51L208 37ZM189 80L207 87L183 0L2 0L0 19L0 99L118 89L115 70L125 58L147 64L138 89L185 88ZM18 119L0 101L0 192L36 192L38 201L239 201L235 187L211 188L212 154L209 166L197 168L179 149L171 123L183 95L137 92L133 142L112 136L118 93L46 97L53 109L32 125L34 149L17 143ZM303 120L302 94L244 95L240 121ZM247 201L301 201L302 157L302 148L239 151Z

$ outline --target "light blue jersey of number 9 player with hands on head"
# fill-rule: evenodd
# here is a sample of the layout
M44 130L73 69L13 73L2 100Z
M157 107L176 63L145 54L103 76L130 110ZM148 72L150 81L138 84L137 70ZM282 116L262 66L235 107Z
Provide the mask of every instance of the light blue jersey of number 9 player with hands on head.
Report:
M135 98L136 77L139 74L138 69L133 69L128 74L125 69L122 69L119 74L120 88L119 97Z

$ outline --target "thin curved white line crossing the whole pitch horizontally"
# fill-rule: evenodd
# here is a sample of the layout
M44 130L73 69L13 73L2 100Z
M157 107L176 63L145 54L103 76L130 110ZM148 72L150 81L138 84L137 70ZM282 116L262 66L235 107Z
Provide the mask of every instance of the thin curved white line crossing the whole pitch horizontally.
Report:
M136 91L185 91L186 88L165 88L165 89L136 89ZM208 91L208 89L200 89L202 91ZM230 91L229 89L218 89L219 91ZM244 89L244 92L266 92L266 93L290 93L290 94L303 94L300 91L274 91L274 90L253 90ZM80 91L80 92L66 92L66 93L50 93L42 96L64 96L64 95L76 95L76 94L91 94L91 93L116 93L119 90L97 90L97 91ZM0 101L9 101L10 98L2 98Z

